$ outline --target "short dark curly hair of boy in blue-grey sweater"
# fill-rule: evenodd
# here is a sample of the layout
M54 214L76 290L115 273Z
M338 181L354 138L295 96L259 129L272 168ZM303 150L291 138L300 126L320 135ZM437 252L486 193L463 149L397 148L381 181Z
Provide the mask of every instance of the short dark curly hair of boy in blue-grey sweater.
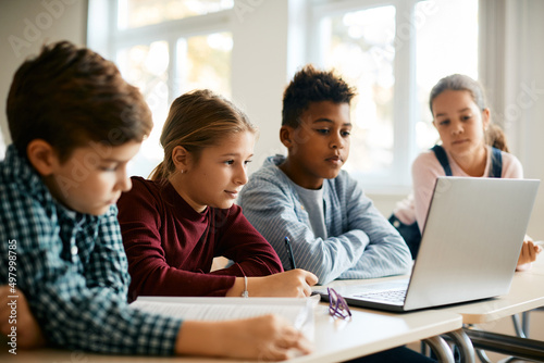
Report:
M311 102L349 103L356 95L333 71L319 71L309 64L298 71L283 93L282 126L297 128L300 115Z

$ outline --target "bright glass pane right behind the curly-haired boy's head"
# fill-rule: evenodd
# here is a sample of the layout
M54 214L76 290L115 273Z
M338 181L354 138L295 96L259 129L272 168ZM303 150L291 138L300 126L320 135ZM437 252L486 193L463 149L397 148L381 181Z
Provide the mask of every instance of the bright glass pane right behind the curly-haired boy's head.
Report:
M364 174L393 163L395 7L341 13L323 18L324 65L357 87L353 104L351 171Z

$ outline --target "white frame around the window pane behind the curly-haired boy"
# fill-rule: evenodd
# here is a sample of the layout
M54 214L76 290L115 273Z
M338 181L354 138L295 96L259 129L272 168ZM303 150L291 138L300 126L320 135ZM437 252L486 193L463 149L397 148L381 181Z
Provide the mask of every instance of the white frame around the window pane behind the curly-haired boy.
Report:
M331 15L394 5L395 86L393 93L393 163L383 173L354 173L372 193L408 193L411 190L411 163L419 153L416 124L419 118L416 78L416 4L420 0L313 0L308 34L321 34L320 22ZM399 33L399 29L403 33ZM321 37L309 37L308 60L323 65ZM355 155L351 155L354 158Z

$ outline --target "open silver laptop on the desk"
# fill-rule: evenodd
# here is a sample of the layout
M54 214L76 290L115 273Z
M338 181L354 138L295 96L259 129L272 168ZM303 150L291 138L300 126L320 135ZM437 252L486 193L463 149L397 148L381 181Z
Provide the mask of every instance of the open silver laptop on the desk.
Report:
M410 278L334 289L349 305L396 312L508 293L539 184L438 177Z

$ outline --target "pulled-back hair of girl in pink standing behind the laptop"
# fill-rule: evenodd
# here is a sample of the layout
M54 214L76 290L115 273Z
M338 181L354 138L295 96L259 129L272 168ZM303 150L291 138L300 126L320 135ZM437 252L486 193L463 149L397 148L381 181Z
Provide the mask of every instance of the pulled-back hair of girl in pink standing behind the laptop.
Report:
M431 113L433 113L434 99L448 89L468 91L472 97L472 100L481 111L487 109L487 102L485 100L483 87L469 76L466 76L463 74L453 74L438 80L438 83L431 90L431 96L429 97L429 107L431 108ZM508 146L506 145L505 133L499 126L493 123L490 123L485 132L485 143L497 148L498 150L509 152Z

